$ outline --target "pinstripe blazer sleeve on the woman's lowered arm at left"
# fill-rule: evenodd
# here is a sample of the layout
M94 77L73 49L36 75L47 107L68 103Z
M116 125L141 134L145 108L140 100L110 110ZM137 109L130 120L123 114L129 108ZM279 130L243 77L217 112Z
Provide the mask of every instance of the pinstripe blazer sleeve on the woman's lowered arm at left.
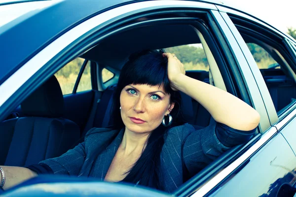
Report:
M86 133L92 132L95 128ZM60 157L47 159L39 164L50 167L54 174L78 175L86 158L85 141L70 149Z

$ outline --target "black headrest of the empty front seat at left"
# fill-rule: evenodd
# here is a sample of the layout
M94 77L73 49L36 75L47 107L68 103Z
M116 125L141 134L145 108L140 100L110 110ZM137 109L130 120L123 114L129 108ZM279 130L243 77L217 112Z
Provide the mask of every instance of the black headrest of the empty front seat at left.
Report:
M22 102L21 108L27 116L62 117L64 98L57 78L50 77Z

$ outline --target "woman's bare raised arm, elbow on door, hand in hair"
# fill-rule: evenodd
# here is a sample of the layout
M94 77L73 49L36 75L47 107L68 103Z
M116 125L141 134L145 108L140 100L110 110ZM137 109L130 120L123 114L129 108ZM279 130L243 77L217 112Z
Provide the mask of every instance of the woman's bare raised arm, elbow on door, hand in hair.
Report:
M168 78L174 90L184 92L204 106L219 123L241 131L255 129L260 121L259 113L235 96L185 75L183 64L174 54L168 58Z

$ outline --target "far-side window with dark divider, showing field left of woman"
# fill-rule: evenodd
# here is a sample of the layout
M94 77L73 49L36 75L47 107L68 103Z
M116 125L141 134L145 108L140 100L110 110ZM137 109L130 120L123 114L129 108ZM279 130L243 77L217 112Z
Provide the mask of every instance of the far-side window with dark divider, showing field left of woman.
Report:
M74 90L74 85L78 77L78 73L83 65L85 60L82 58L76 58L73 61L69 62L67 65L62 67L59 71L57 71L54 75L59 81L59 84L62 89L63 95L72 94ZM86 66L83 74L81 76L81 80L79 82L77 91L85 91L87 89L91 89L90 83L90 66Z

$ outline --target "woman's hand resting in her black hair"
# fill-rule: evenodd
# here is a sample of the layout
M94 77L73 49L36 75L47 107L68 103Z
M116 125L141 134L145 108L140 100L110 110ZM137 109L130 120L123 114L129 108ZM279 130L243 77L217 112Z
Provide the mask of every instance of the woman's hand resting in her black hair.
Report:
M175 56L175 54L163 53L162 56L168 59L168 78L171 88L174 91L178 91L179 89L176 86L175 81L180 77L180 75L185 75L184 65Z

